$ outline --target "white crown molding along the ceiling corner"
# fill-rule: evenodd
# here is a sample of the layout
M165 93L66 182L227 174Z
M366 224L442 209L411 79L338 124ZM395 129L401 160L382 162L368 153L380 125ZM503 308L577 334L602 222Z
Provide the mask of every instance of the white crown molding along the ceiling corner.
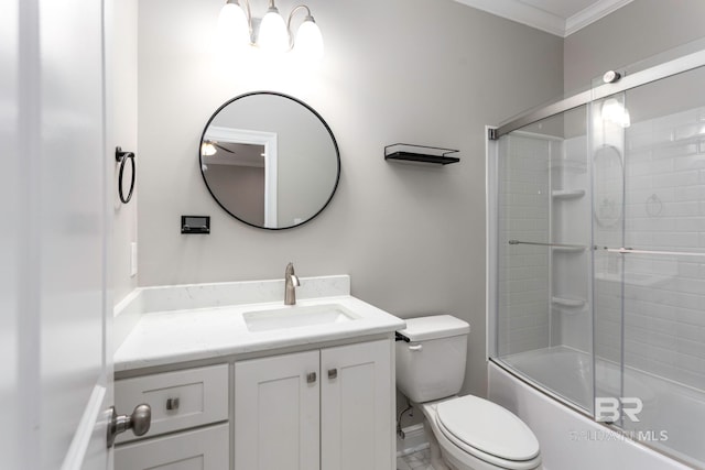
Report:
M633 0L597 0L590 7L564 19L520 0L455 0L508 20L566 37L588 24L608 15Z

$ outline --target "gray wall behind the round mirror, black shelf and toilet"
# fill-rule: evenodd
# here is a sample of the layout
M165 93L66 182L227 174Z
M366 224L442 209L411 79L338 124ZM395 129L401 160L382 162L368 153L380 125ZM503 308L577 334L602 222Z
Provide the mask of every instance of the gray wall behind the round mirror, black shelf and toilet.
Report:
M221 4L139 2L140 285L279 278L289 261L301 276L348 273L355 296L392 314L468 320L465 391L485 394L484 125L562 92L563 40L451 0L312 0L321 64L218 63ZM210 114L262 89L307 102L340 147L336 196L292 230L230 218L198 170ZM462 162L387 163L395 142L460 149ZM210 215L213 233L180 234L182 214Z

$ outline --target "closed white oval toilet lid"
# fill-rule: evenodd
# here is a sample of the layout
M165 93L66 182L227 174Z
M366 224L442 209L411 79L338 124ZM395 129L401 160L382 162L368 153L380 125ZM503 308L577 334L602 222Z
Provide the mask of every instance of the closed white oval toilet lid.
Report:
M436 416L460 441L506 460L539 455L539 441L513 413L490 401L466 395L438 403Z

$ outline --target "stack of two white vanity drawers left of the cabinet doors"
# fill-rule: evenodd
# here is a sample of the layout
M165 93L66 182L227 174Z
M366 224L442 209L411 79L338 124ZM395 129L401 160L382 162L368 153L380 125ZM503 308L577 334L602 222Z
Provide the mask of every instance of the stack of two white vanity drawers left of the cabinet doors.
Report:
M118 437L115 469L228 469L228 370L219 364L116 381L116 409L129 414L147 403L152 424L142 437Z

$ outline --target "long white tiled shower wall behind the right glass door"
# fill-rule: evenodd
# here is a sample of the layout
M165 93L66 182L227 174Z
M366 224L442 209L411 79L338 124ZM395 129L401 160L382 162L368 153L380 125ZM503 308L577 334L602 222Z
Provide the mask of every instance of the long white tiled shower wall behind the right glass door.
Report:
M705 108L634 123L625 145L625 247L705 253ZM705 258L597 251L595 274L596 353L620 360L623 276L626 365L705 390Z

